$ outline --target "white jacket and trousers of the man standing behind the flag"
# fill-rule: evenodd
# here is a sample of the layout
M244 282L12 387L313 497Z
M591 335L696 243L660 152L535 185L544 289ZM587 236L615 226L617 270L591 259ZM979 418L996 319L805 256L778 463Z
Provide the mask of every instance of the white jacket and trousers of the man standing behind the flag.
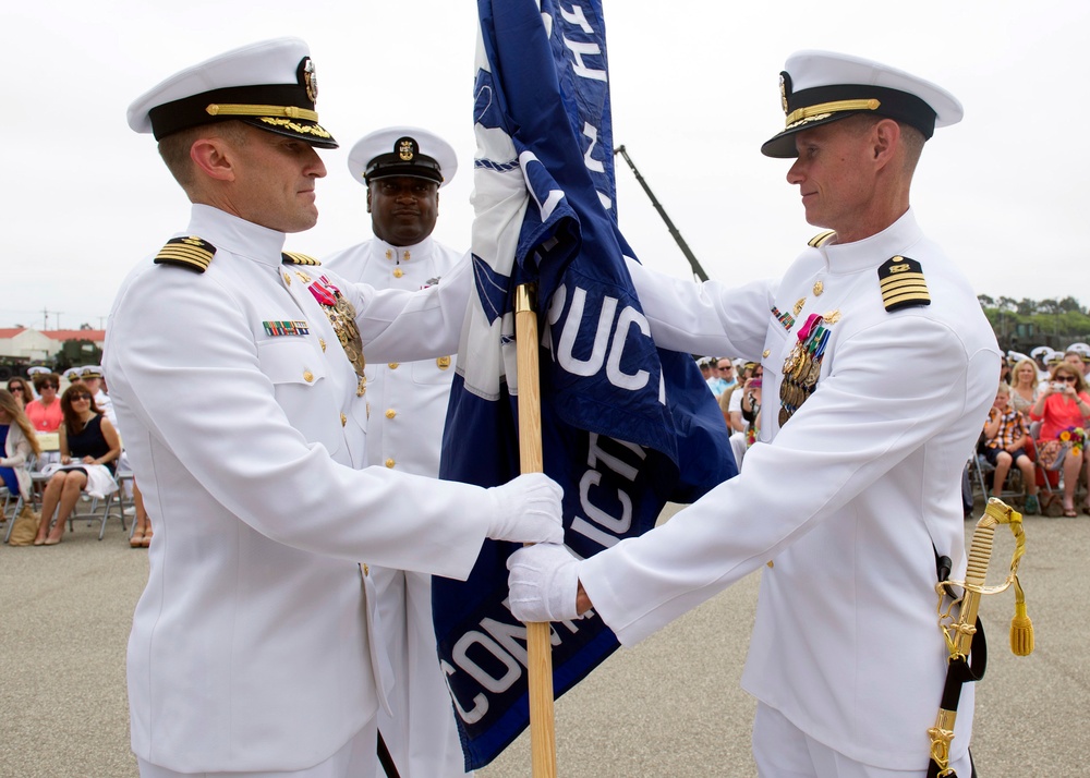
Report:
M412 246L375 238L323 260L338 276L375 289L414 291L434 284L462 253L431 236ZM436 477L453 355L367 364L367 464ZM432 576L371 567L386 651L393 668L392 716L378 714L401 778L464 775L464 757L447 684L435 652ZM379 767L380 778L385 773Z

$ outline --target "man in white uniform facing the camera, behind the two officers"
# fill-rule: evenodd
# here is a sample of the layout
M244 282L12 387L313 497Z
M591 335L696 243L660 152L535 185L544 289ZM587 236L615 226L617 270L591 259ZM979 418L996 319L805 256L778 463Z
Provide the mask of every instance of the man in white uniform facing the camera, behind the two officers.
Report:
M455 149L420 127L385 127L352 147L348 169L367 189L375 236L326 257L323 267L375 289L417 290L438 283L463 254L432 238L439 190L458 170ZM452 355L367 364L367 464L438 476L453 367ZM378 729L401 778L464 775L450 695L435 652L432 576L379 566L372 566L371 575L393 665L393 715L380 710Z

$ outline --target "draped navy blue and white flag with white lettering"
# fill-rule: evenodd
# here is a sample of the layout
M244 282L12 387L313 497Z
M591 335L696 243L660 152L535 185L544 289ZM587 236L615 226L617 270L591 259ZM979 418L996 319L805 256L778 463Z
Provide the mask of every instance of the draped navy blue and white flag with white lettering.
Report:
M688 354L659 351L616 221L602 0L479 0L472 252L440 477L519 474L513 293L536 281L545 473L565 537L589 557L737 473L718 405ZM439 658L467 768L529 724L526 630L507 608L511 544L487 542L469 581L433 579ZM596 616L554 624L557 695L617 648Z

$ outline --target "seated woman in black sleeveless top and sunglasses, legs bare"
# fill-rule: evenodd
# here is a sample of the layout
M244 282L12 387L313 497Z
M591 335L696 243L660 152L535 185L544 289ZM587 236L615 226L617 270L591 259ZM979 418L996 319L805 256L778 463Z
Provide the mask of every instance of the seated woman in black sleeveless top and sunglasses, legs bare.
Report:
M117 491L113 479L121 438L110 420L95 404L87 387L73 384L60 399L64 424L60 426L61 461L50 464L43 474L49 477L41 497L41 523L35 546L56 546L64 536L76 500L84 491L106 496ZM57 523L50 530L53 513Z

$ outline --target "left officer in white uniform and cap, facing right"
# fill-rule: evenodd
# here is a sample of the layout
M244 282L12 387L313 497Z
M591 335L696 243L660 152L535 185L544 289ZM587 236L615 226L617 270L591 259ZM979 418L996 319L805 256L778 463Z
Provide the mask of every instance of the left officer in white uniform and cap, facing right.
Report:
M367 563L465 576L482 540L559 536L559 489L363 469L363 355L453 350L469 284L379 292L282 254L314 226L305 42L232 50L137 98L193 203L125 279L106 374L156 516L129 642L142 776L375 775L389 667ZM360 562L363 562L361 566Z

